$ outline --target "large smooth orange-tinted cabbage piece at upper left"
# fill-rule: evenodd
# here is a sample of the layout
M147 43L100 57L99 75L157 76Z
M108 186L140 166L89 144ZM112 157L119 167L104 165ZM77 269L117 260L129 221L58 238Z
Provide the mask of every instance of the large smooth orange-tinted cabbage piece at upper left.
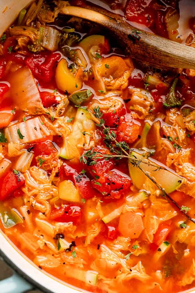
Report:
M44 113L41 97L34 77L27 67L21 67L10 74L8 81L13 102L28 114Z

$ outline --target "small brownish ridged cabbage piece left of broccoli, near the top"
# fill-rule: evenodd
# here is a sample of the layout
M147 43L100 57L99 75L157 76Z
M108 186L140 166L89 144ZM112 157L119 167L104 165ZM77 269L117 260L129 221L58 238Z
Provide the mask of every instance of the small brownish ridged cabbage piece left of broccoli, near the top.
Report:
M59 31L53 27L46 25L43 29L43 43L42 46L50 51L56 51L58 49L58 43L60 40Z

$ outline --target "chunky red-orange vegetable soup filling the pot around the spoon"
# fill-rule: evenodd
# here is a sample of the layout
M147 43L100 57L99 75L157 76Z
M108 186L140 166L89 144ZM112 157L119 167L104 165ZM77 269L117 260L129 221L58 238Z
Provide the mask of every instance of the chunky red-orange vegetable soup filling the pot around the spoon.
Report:
M193 1L112 2L195 47ZM91 292L193 288L195 71L143 67L67 4L33 2L1 36L1 230Z

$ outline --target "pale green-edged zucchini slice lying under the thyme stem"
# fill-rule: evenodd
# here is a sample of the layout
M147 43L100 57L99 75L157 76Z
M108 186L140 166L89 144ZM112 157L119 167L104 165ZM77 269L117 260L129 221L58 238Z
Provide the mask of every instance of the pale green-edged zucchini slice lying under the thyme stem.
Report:
M149 175L154 178L154 180L165 189L167 193L171 193L172 191L179 189L179 186L181 186L183 179L176 175L173 172L170 172L168 170L158 169L160 167L155 162L152 161L152 163L156 166L149 165L150 160L143 156L142 154L138 154L136 152L132 152L131 157L137 158L140 160L140 167L149 173ZM144 164L145 162L146 164ZM131 180L133 184L138 188L142 189L143 184L146 181L147 177L146 175L141 172L138 168L136 168L134 165L131 164L131 161L129 160L129 173L131 176Z

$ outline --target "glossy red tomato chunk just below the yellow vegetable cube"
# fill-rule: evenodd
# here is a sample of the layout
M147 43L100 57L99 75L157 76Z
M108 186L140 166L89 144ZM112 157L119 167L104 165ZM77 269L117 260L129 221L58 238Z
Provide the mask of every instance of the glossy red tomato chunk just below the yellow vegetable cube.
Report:
M81 219L81 208L77 205L63 205L51 212L50 218L56 222L78 223Z

